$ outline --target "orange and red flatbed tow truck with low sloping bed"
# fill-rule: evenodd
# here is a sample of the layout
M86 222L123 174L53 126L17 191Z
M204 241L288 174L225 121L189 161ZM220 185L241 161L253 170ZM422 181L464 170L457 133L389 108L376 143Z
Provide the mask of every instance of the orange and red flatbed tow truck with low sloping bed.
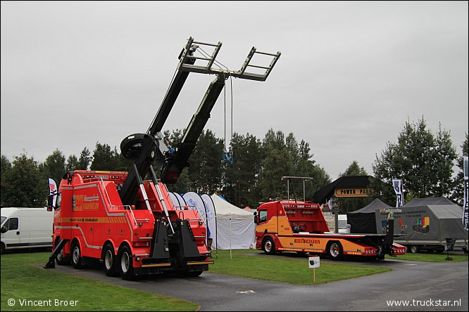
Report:
M327 254L331 259L344 256L364 256L384 259L385 254L406 254L404 246L393 243L392 213L386 234L332 233L327 226L319 204L296 200L265 202L254 216L256 249L266 254L292 251Z

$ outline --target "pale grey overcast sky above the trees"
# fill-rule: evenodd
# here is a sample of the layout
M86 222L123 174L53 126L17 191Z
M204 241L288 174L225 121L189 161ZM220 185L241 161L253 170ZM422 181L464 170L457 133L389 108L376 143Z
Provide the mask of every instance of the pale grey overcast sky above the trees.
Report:
M232 80L232 129L292 132L332 180L354 160L373 174L408 120L441 123L461 155L467 1L1 1L1 154L119 150L148 129L189 37L221 41L230 70L251 46L280 51L265 82ZM187 127L213 79L189 74L163 130ZM228 141L230 98L228 84L205 128Z

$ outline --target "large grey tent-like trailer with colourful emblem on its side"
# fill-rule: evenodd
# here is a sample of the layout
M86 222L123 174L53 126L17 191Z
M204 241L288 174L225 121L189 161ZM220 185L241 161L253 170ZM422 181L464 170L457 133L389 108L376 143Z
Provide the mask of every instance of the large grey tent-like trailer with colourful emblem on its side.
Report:
M463 227L463 209L444 197L418 198L401 207L394 214L394 234L402 234L399 243L404 245L438 243L446 238L468 240ZM387 214L376 212L377 232L383 233Z

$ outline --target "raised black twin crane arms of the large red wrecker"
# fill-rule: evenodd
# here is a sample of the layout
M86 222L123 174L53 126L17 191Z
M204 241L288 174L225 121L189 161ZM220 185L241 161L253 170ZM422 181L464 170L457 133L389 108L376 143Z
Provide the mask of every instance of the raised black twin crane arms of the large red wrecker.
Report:
M211 56L206 58L194 56L194 51L202 45L213 47L213 53ZM208 122L213 105L215 105L218 96L220 96L220 93L225 86L225 79L232 76L242 79L264 81L267 79L268 74L270 74L270 70L272 70L277 59L280 58L280 52L275 54L258 52L256 51L256 48L253 47L244 61L241 70L230 71L212 69L215 57L217 56L218 51L220 51L221 46L221 42L218 42L218 44L207 44L204 42L194 41L194 39L190 37L179 56L180 61L177 65L175 79L173 79L173 82L168 89L168 93L166 93L163 103L161 103L161 107L158 110L154 122L149 127L149 131L147 131L146 134L132 134L131 136L127 136L127 138L120 143L120 149L123 155L128 159L134 160L135 164L135 166L132 166L130 169L127 179L119 191L123 204L135 203L139 188L137 174L141 177L146 176L146 174L149 173L151 164L155 161L158 162L161 182L177 182L182 169L187 167L187 161L195 148L196 141ZM273 57L273 60L268 66L250 65L251 58L255 53ZM196 60L204 61L206 64L204 66L196 65ZM246 72L247 67L265 69L265 72L261 74ZM175 104L177 96L179 95L189 72L215 74L216 78L211 82L210 86L208 86L198 110L189 122L189 126L187 126L180 145L176 148L175 152L173 152L165 145L162 139L163 136L161 135L161 129L163 129L163 124L166 119L168 119L168 115ZM137 168L138 172L136 172L134 168Z

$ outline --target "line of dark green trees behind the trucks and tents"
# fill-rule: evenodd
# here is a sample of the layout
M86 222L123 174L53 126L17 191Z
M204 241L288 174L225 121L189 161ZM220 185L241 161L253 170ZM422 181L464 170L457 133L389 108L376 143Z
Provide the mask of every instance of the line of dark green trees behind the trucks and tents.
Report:
M183 135L181 129L165 131L168 145L175 148ZM463 155L468 155L468 134L461 145ZM454 176L454 166L459 171ZM93 153L88 148L80 156L65 157L54 150L44 162L37 162L23 152L13 162L1 155L1 206L42 207L49 194L47 178L59 183L67 171L104 170L128 171L132 166L117 148L96 142ZM156 169L156 168L155 168ZM283 176L310 177L306 181L306 200L331 183L327 172L313 160L309 143L297 141L294 134L269 129L261 140L251 134L234 133L228 144L217 138L211 130L203 131L189 158L189 167L168 189L177 193L189 190L196 193L223 195L238 207L258 207L260 202L287 198L287 182ZM368 176L354 161L339 176ZM376 155L373 179L370 180L371 197L334 198L339 212L361 209L378 197L394 206L396 195L392 178L401 178L406 202L415 197L447 197L462 205L463 158L458 157L449 131L437 134L427 129L425 119L407 121L396 142L388 142ZM303 199L304 182L292 180L289 195ZM320 203L322 204L322 203Z

